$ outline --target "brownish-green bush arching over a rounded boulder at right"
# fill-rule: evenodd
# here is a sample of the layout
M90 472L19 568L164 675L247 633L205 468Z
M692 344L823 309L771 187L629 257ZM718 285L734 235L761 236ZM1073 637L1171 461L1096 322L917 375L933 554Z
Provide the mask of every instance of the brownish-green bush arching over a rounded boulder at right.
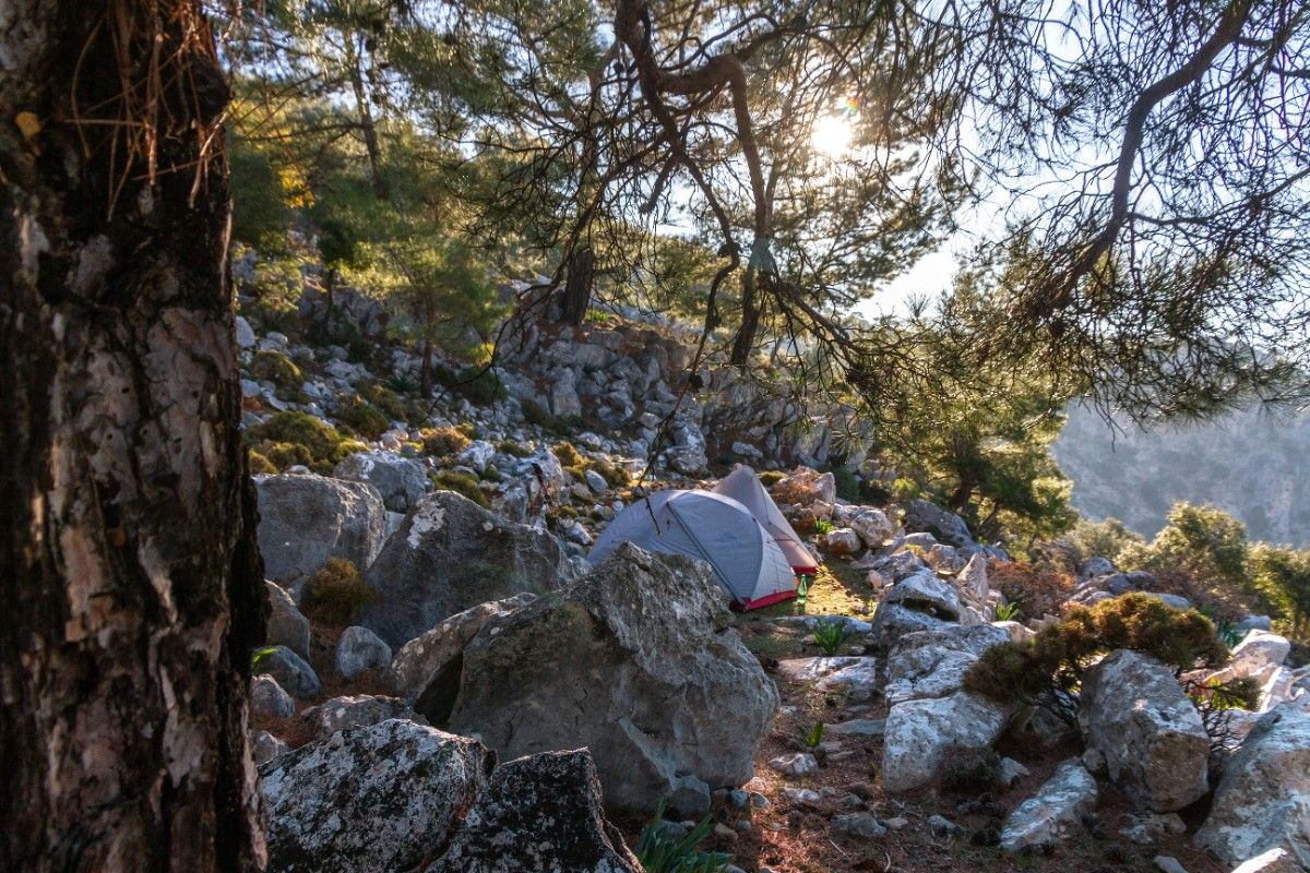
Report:
M1229 652L1210 620L1133 592L1091 609L1072 606L1058 624L1028 643L1002 643L982 653L964 687L993 700L1020 699L1077 724L1083 670L1098 654L1132 649L1163 661L1178 674L1224 666Z

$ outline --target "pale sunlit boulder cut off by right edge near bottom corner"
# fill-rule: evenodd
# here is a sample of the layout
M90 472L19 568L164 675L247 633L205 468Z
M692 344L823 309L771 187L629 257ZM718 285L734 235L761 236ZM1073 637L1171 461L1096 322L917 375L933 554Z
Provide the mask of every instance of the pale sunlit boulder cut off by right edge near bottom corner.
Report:
M1227 864L1282 849L1310 869L1310 711L1265 713L1224 768L1196 844Z

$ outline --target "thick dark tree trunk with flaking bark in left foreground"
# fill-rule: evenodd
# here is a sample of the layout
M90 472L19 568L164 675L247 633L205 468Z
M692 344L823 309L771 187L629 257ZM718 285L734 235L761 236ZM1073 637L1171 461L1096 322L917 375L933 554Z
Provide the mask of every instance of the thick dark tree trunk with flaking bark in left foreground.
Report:
M212 35L195 0L43 0L22 26L14 8L0 869L258 870L246 695L267 601Z

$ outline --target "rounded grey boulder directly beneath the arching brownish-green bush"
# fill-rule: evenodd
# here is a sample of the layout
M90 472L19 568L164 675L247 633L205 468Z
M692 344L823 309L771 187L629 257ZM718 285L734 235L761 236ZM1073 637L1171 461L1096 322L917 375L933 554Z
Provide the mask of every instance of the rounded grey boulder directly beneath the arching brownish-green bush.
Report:
M1209 736L1161 661L1119 650L1089 668L1078 724L1087 743L1104 755L1111 781L1138 806L1170 813L1209 791Z

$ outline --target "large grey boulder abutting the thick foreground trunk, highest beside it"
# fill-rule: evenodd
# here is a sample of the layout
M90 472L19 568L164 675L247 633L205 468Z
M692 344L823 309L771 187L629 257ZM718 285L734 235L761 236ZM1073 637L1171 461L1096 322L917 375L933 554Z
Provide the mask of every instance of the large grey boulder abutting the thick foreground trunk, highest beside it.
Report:
M372 563L386 533L386 508L363 482L314 475L257 476L259 551L276 582L309 576L329 558Z

